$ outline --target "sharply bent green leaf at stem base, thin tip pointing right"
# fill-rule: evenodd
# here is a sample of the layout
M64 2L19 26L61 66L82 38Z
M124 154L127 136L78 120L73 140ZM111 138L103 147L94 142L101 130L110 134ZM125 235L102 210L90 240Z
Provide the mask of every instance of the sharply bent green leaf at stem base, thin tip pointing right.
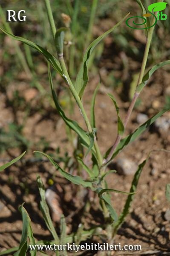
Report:
M120 191L120 190L117 190L117 189L101 189L98 192L98 197L100 199L104 200L104 202L106 204L106 207L107 207L113 221L118 221L118 215L115 212L115 209L112 207L109 195L103 195L103 193L105 193L105 192L115 192L115 193L121 193L121 194L127 194L127 195L134 194L134 193L133 192L132 193L131 192L123 192L123 191Z

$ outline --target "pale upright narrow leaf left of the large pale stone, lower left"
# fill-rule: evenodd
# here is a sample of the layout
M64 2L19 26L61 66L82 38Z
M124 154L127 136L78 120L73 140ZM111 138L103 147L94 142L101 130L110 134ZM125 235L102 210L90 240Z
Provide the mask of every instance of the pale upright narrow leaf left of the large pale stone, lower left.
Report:
M58 235L55 231L55 228L54 228L54 225L52 223L52 219L51 219L51 216L49 213L49 207L46 203L45 188L44 188L44 185L42 183L40 176L37 176L37 184L38 184L38 189L39 189L40 196L41 196L40 209L43 214L44 221L46 222L47 228L52 233L52 236L55 239L55 243L60 244L60 239L58 238Z

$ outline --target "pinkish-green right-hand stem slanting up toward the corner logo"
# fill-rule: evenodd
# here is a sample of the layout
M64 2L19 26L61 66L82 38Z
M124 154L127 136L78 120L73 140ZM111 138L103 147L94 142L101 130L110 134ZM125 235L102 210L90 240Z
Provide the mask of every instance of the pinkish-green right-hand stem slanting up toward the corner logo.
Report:
M154 23L154 17L153 17L152 24L153 23ZM147 64L147 58L148 58L149 49L150 49L150 43L152 41L154 27L155 26L151 27L150 30L149 30L149 33L148 33L147 42L146 42L146 46L145 46L145 50L144 50L144 57L143 57L143 61L142 61L142 64L141 64L141 71L139 73L138 82L137 82L136 87L138 87L138 85L141 84L143 76L144 76L144 72L145 72L145 68L146 68L146 64ZM130 106L129 106L129 109L127 111L127 115L124 119L124 128L126 128L126 126L127 126L127 123L130 119L131 113L133 111L133 108L135 106L135 102L138 99L139 94L140 94L140 92L135 91L135 94L133 96L133 99L132 99L132 101L130 103ZM109 161L112 159L112 155L113 155L117 145L119 144L119 142L121 140L121 137L122 136L120 136L119 134L117 135L115 143L113 144L107 159L104 159L104 161L103 161L103 166L106 165L107 163L109 163Z

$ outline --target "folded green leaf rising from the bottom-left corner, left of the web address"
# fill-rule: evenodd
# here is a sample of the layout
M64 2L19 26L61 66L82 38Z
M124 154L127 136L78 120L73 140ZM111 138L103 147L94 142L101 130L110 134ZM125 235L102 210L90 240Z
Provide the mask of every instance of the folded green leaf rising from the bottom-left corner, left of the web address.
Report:
M23 204L19 207L19 210L23 218L23 229L22 229L20 246L18 248L18 251L14 253L14 256L26 256L27 238L29 238L30 244L33 244L33 245L35 244L35 239L32 232L31 220L29 218L28 212L23 207ZM30 250L31 256L35 256L36 253L37 253L37 250Z

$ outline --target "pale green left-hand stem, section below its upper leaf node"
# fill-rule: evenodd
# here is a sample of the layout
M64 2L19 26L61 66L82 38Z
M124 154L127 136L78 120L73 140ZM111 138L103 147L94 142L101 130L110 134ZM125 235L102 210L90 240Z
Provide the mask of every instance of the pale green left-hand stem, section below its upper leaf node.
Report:
M84 122L86 123L86 127L87 127L89 133L91 133L91 132L92 132L92 126L91 126L91 124L90 124L90 122L89 122L89 119L88 119L88 117L87 117L87 115L86 115L86 111L85 111L84 106L83 106L83 104L82 104L82 102L81 102L81 99L80 99L80 97L78 96L78 93L76 92L75 87L74 87L74 85L72 84L72 81L71 81L71 79L70 79L70 77L69 77L69 74L68 74L68 71L67 71L67 68L66 68L66 64L65 64L65 62L64 62L63 54L60 54L60 55L58 56L58 59L59 59L60 64L61 64L61 68L62 68L62 71L63 71L63 75L64 75L64 77L65 77L65 79L66 79L66 81L67 81L67 84L69 85L69 88L70 88L70 90L71 90L71 92L72 92L72 95L74 96L74 98L75 98L75 100L76 100L76 102L77 102L77 104L78 104L78 107L79 107L79 110L80 110L80 112L81 112L81 115L83 116ZM101 165L102 165L102 162L103 162L103 158L102 158L100 149L99 149L99 147L98 147L98 143L97 143L96 138L95 138L95 140L94 140L94 147L95 147L96 155L97 155L97 157L98 157L98 163L99 163L99 165L101 166Z

